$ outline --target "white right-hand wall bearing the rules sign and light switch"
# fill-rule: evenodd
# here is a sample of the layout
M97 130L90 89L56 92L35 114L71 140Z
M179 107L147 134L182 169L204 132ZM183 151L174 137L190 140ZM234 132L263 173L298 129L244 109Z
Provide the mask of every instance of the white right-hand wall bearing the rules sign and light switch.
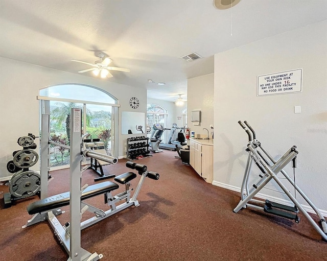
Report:
M214 184L239 191L247 135L238 121L246 120L276 159L297 146L296 184L318 208L327 209L326 32L327 20L215 55ZM298 68L303 92L256 97L259 75ZM258 168L252 169L258 180ZM286 172L293 177L289 166ZM277 188L271 182L268 187ZM268 189L261 192L287 199Z

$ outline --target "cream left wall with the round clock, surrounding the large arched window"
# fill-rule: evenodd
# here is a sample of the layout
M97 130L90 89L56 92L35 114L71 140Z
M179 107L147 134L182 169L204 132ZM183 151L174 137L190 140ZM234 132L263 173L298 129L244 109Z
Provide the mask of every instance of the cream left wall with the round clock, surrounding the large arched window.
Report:
M121 135L121 112L146 112L146 89L112 83L106 80L91 78L84 75L71 74L36 66L24 62L0 57L0 111L2 112L0 130L2 146L0 146L0 179L11 176L7 171L7 162L12 160L12 152L22 149L16 141L20 136L32 132L39 133L39 104L36 96L39 89L46 86L63 83L79 83L95 86L106 90L121 105L119 111L119 152L118 156L125 155L124 147L128 135ZM126 94L128 93L128 94ZM139 107L132 109L129 100L137 97ZM39 163L39 162L38 162ZM39 164L31 169L39 170Z

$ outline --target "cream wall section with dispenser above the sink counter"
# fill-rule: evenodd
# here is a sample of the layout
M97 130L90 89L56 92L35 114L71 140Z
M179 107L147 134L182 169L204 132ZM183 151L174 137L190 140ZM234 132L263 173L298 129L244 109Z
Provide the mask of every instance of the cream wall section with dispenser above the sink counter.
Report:
M201 123L194 126L191 122L191 111L201 111ZM214 125L214 74L203 75L188 79L188 127L195 134L212 137L210 125ZM215 126L214 126L215 128Z

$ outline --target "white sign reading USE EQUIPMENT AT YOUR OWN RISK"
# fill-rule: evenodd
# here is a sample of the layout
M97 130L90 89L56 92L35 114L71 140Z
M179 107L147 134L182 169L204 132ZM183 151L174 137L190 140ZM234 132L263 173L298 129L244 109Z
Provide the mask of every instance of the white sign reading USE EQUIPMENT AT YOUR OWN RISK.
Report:
M302 91L302 69L258 76L257 96Z

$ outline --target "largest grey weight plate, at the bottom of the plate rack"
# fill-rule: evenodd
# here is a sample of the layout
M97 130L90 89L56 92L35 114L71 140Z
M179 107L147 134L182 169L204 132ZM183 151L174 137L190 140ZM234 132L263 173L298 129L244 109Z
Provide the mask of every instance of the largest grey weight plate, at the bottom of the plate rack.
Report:
M9 183L10 194L18 199L36 195L41 187L41 175L35 171L24 171L12 176Z

